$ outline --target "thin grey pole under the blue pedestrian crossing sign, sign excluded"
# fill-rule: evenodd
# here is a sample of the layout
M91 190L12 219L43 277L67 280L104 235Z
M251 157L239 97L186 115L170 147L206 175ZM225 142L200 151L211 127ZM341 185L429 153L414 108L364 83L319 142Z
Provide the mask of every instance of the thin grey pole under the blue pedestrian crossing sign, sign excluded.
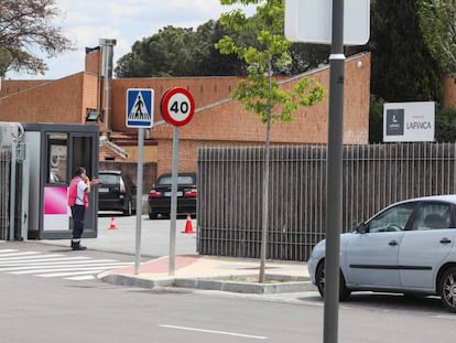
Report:
M139 274L141 264L141 214L142 214L142 175L143 175L143 151L144 129L138 129L138 170L137 170L137 239L134 249L134 274Z

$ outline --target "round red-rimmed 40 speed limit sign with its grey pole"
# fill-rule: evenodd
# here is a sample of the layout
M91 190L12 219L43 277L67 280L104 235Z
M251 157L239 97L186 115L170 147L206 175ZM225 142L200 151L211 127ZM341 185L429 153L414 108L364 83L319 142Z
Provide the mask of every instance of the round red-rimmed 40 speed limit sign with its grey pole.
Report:
M163 118L174 126L173 167L171 184L171 223L170 223L170 265L169 275L174 275L176 255L176 215L177 215L177 165L178 165L178 128L188 124L195 114L195 101L185 88L171 88L162 97L160 109Z

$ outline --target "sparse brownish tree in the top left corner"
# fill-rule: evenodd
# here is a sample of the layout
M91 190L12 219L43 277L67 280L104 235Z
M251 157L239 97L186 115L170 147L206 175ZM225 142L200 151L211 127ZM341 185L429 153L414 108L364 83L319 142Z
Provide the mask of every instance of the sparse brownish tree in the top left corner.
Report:
M61 28L50 22L61 15L54 0L0 0L0 75L8 71L44 74L44 61L31 53L39 49L54 57L72 49Z

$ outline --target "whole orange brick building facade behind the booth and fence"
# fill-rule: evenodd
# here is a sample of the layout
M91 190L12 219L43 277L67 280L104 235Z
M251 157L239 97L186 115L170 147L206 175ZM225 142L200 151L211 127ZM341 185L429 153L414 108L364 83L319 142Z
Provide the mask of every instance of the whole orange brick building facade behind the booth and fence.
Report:
M370 54L347 58L345 71L344 143L366 144L369 132ZM94 124L89 112L99 114L100 161L138 160L137 129L126 126L126 94L129 88L154 89L154 126L146 130L144 162L156 162L158 174L170 172L174 128L160 114L160 99L172 87L188 89L195 99L193 120L180 128L180 171L195 171L202 146L262 146L265 125L229 98L239 77L170 77L111 79L109 110L105 108L106 79L101 76L101 52L86 54L85 71L54 81L3 81L0 92L0 121ZM292 122L275 122L272 144L325 144L329 108L329 66L282 78L290 89L303 77L319 82L326 89L322 103L302 107ZM109 117L107 117L109 116Z

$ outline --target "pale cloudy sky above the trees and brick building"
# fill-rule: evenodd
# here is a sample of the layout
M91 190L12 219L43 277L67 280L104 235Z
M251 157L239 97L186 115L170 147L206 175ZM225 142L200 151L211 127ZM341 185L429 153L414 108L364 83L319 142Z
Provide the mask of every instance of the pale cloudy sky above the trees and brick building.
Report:
M75 51L51 60L39 51L31 53L43 57L48 66L44 75L7 73L12 79L56 79L84 71L85 49L99 45L99 39L115 39L113 64L131 52L135 41L151 36L160 29L196 28L208 20L217 20L220 13L232 7L221 6L218 0L55 0L63 15L53 25L62 28ZM238 6L239 7L239 6ZM247 9L249 13L253 10Z

